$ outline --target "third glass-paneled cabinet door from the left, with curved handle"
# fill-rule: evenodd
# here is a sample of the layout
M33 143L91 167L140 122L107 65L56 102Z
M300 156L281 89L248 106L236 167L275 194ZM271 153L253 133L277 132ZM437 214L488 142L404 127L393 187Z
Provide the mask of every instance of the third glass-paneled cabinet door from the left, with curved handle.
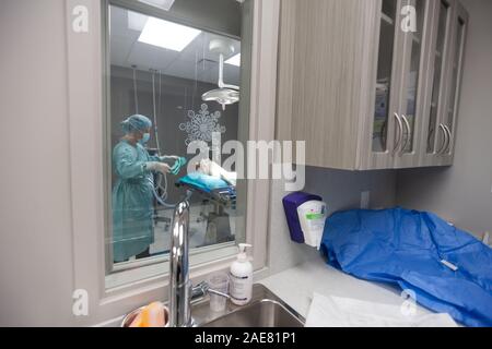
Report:
M425 106L422 140L423 166L438 165L438 157L447 144L448 134L442 123L442 115L446 108L446 68L449 61L449 44L452 27L452 2L448 0L430 1L433 4L433 28L429 51L430 69L427 80L429 101Z

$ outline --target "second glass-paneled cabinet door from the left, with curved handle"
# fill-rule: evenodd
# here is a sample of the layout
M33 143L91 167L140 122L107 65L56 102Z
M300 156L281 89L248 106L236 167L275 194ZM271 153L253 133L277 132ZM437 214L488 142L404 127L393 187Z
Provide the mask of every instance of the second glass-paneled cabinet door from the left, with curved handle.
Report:
M424 112L425 76L427 63L425 53L432 26L432 1L409 0L402 3L401 14L414 20L415 27L405 33L401 55L401 86L398 115L402 129L400 144L395 156L395 167L419 166L421 147L421 123ZM402 20L403 21L403 20ZM403 28L401 29L403 31Z

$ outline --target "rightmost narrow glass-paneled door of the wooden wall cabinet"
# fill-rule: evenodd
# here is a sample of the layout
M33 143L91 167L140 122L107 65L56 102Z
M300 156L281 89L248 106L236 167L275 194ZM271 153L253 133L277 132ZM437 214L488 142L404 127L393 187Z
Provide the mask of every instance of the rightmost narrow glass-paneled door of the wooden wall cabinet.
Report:
M452 19L452 44L449 45L449 64L447 69L446 85L449 88L446 108L442 115L442 124L446 129L447 143L440 158L441 165L453 164L467 26L468 13L459 2L456 2Z

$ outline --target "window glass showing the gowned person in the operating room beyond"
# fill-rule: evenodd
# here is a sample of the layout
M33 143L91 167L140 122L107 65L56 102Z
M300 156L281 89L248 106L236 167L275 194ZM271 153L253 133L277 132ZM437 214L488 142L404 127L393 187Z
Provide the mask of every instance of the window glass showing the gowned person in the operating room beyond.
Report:
M239 11L234 17L241 16L241 4L233 9ZM222 160L231 155L221 148L212 154L211 147L214 136L223 145L245 133L239 106L248 101L239 100L239 89L248 55L242 52L241 39L234 33L209 33L119 7L112 5L109 13L108 273L168 256L174 207L187 193L192 193L191 253L244 242L245 216L237 207L245 206L238 203L245 203L239 193L246 191L236 192L244 181L236 180L235 165L220 167L218 155ZM221 15L226 19L227 13ZM218 91L221 55L223 80L230 86ZM214 94L227 100L219 104ZM210 147L207 159L188 152L194 141ZM189 164L220 178L227 200L200 186L203 183L177 186Z

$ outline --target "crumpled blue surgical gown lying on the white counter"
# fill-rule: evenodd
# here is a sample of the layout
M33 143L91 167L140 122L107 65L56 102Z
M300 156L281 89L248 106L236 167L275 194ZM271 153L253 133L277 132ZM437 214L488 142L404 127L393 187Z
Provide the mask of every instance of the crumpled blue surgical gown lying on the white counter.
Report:
M336 213L326 221L321 253L344 273L413 291L418 303L459 323L492 326L492 249L434 214Z

